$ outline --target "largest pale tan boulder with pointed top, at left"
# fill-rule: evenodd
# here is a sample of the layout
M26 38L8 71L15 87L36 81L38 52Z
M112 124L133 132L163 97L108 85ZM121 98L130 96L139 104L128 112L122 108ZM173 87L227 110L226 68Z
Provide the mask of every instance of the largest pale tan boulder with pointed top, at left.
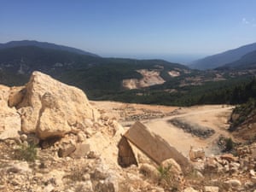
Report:
M20 92L19 92L20 93ZM40 139L63 137L98 116L82 90L62 84L49 75L33 72L15 106L22 120L21 130L36 133Z

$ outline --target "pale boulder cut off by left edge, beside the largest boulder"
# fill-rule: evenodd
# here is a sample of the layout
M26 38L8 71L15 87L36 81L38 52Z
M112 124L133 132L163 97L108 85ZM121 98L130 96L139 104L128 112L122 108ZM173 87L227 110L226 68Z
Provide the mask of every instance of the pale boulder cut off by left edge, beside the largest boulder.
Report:
M0 85L0 140L19 137L20 115L15 108L9 108L9 87Z

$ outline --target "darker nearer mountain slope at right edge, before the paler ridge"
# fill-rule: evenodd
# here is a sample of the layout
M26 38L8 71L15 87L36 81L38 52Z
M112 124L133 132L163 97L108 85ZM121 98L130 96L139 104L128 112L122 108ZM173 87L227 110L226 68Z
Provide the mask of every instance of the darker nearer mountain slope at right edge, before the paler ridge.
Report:
M218 70L230 70L230 69L256 69L256 50L243 55L241 59L230 62L222 67L218 67Z

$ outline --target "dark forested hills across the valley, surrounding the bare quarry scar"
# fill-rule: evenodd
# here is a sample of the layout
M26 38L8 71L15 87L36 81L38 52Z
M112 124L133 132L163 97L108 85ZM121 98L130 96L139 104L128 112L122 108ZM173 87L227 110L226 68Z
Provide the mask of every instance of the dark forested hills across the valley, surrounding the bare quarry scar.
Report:
M143 79L139 70L155 72L163 80L139 89L125 88L124 80ZM0 49L1 84L25 84L33 71L78 86L90 100L174 106L247 102L245 84L256 74L255 69L198 71L162 60L102 58L36 45Z

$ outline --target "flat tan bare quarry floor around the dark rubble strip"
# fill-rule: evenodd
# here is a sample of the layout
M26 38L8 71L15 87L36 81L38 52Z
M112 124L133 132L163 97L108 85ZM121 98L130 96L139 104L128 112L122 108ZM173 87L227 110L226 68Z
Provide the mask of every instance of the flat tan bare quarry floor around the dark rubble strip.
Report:
M188 156L190 146L204 148L207 155L219 154L221 149L218 148L218 138L232 138L227 131L232 106L207 105L177 108L121 102L91 102L91 104L102 109L109 117L115 117L126 129L137 120L141 121L185 156ZM195 134L183 131L169 122L177 118L188 125L207 127L214 133L206 138L196 137Z

